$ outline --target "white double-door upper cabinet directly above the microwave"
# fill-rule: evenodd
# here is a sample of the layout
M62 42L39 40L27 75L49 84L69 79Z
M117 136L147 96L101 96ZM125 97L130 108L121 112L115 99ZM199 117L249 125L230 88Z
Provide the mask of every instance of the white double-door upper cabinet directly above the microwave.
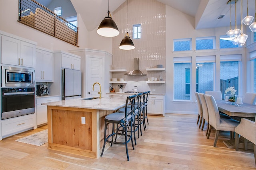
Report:
M34 68L36 45L20 39L1 35L1 63Z

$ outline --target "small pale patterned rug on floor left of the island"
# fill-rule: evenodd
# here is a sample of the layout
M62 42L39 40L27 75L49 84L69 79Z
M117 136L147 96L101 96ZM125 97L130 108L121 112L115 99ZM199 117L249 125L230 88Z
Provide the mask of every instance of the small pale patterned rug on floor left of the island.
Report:
M17 139L16 141L22 142L22 143L27 143L30 145L41 146L44 143L48 142L48 131L46 129L44 131L35 133L33 135L29 135L27 137Z

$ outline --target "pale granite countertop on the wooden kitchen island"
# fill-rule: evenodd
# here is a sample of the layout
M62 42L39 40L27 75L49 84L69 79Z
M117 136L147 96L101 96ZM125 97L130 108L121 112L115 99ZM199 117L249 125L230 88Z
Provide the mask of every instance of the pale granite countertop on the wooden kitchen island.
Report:
M105 95L104 97L96 98L93 100L70 99L61 100L57 102L43 103L46 106L59 106L59 107L75 107L84 109L100 109L100 110L116 110L124 107L126 103L126 96Z

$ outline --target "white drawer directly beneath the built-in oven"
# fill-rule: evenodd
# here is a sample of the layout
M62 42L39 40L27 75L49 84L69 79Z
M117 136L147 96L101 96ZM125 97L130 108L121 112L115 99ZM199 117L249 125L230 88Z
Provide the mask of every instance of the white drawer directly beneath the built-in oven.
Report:
M2 120L2 136L34 127L35 123L35 114Z

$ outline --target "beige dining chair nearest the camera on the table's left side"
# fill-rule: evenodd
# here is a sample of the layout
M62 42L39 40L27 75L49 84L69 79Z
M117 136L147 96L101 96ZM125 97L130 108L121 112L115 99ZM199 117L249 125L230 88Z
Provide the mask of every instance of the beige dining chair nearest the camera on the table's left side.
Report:
M216 131L213 146L216 147L219 131L230 131L230 133L234 133L235 127L239 124L239 121L236 121L234 119L220 118L220 113L214 97L212 95L205 94L204 98L206 100L206 105L209 113L208 126L210 126L207 139L209 139L213 127Z

